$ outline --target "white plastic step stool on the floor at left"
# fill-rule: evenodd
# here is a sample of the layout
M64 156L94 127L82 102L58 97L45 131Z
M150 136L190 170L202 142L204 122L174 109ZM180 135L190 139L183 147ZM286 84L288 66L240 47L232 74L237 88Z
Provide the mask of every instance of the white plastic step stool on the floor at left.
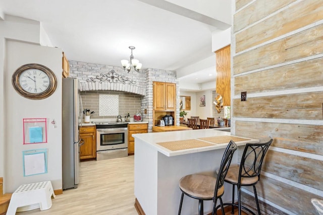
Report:
M12 194L7 215L17 212L33 210L47 210L51 207L51 196L55 198L50 181L24 184Z

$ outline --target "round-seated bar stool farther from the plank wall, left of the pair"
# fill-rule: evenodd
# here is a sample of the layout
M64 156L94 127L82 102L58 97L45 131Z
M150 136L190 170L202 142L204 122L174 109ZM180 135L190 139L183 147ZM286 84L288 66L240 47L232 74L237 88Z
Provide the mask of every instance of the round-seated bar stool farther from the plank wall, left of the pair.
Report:
M218 199L220 200L222 214L225 214L222 201L222 196L224 194L224 179L227 175L233 154L236 150L237 145L233 140L231 140L223 154L220 169L216 177L202 174L191 174L180 179L179 187L182 191L182 195L178 215L181 214L184 194L198 199L199 215L203 214L204 200L213 200L212 215L216 214L215 212Z

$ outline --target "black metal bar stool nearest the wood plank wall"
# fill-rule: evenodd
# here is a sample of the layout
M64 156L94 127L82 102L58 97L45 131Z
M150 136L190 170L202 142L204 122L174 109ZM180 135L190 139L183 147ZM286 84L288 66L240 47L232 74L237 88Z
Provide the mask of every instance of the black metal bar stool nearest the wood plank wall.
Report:
M224 205L231 205L232 213L234 212L234 207L238 206L239 215L241 215L241 208L255 215L255 213L252 212L249 208L241 205L240 196L240 189L242 186L253 186L257 211L260 215L260 208L255 185L260 179L262 162L272 142L273 139L270 139L269 141L260 144L246 144L242 154L240 165L231 166L229 168L228 174L225 178L225 182L232 184L232 202L224 203ZM237 186L238 190L238 205L234 202L235 186Z

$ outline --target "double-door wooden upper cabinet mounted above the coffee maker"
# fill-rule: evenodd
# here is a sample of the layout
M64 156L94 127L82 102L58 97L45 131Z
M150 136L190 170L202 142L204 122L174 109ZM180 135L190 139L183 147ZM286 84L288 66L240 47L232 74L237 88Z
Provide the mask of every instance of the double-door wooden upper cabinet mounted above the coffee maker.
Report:
M176 110L176 84L153 82L153 109L155 111Z

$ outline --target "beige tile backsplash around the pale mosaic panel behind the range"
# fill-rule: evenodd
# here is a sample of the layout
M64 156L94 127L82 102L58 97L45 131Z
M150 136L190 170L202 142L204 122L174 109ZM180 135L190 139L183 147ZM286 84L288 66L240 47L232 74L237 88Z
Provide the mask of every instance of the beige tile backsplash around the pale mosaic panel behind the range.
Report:
M141 110L141 96L124 92L82 92L83 109L95 111L92 119L117 118L117 116L99 116L99 94L119 95L119 115L125 117L128 113L131 117Z

